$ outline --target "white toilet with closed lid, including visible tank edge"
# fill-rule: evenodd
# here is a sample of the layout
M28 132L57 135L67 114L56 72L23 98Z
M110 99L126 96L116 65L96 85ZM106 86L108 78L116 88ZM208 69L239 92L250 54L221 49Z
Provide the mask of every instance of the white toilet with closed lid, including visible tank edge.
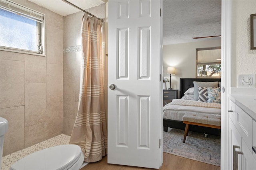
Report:
M8 121L0 117L1 161ZM80 146L65 144L34 152L16 161L10 170L79 170L87 164Z

